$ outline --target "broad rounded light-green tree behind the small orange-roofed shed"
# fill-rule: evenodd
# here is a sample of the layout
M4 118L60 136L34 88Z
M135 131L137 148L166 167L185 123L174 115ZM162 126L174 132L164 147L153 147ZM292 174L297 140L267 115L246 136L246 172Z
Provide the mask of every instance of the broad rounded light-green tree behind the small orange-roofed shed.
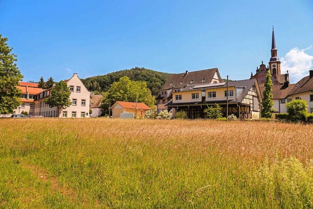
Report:
M102 109L109 110L109 105L112 106L115 101L126 102L142 102L155 109L155 98L151 91L147 88L144 81L131 81L129 77L124 76L119 81L114 82L107 93L104 93L102 99Z

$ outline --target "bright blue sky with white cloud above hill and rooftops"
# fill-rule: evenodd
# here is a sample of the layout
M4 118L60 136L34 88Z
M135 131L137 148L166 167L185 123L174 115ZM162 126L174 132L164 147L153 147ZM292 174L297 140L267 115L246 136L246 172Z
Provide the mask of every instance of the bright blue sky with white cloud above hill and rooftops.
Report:
M312 68L312 0L0 0L0 33L24 81L133 67L217 67L247 79L269 61L272 25L282 70L296 82L308 74L298 69Z

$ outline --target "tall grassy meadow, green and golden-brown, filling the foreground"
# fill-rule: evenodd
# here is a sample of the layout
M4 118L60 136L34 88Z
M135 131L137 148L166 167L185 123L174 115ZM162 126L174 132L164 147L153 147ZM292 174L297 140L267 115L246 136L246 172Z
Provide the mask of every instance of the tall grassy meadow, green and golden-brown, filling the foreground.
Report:
M313 125L0 120L0 208L312 207Z

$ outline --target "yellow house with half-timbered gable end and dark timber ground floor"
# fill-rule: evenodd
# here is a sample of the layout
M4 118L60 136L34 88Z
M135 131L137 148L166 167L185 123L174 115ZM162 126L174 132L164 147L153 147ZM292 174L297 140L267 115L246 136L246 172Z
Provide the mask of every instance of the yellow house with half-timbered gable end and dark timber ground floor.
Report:
M166 106L176 111L187 112L188 118L205 118L203 112L208 105L219 104L226 116L227 84L189 85L174 92ZM228 82L228 115L245 118L259 118L262 97L256 79Z

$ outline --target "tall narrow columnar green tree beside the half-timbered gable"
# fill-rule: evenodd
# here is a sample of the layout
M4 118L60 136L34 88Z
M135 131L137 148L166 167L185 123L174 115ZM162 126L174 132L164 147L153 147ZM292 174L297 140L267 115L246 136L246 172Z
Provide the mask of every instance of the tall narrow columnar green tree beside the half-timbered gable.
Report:
M265 90L263 92L263 102L262 102L262 110L261 110L261 116L265 118L271 118L272 113L275 111L275 109L272 108L274 102L273 102L273 94L272 94L272 75L270 74L270 71L268 70L268 73L266 75L265 80Z

